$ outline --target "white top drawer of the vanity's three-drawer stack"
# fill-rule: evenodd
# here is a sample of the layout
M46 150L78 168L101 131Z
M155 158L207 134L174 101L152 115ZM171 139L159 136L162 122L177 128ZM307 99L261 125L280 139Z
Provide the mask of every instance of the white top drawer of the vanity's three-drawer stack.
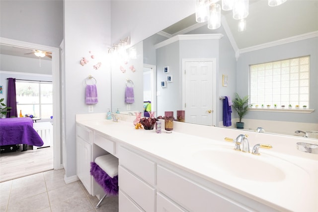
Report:
M156 163L129 150L123 146L119 147L119 165L129 169L140 178L150 183L156 184Z

